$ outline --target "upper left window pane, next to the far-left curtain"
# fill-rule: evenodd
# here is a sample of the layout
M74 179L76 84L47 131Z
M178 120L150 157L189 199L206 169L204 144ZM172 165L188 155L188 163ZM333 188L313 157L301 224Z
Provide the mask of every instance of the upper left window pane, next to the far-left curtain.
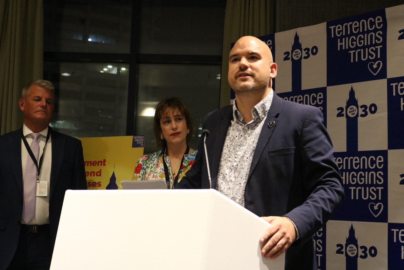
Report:
M131 0L44 0L44 51L129 53Z

